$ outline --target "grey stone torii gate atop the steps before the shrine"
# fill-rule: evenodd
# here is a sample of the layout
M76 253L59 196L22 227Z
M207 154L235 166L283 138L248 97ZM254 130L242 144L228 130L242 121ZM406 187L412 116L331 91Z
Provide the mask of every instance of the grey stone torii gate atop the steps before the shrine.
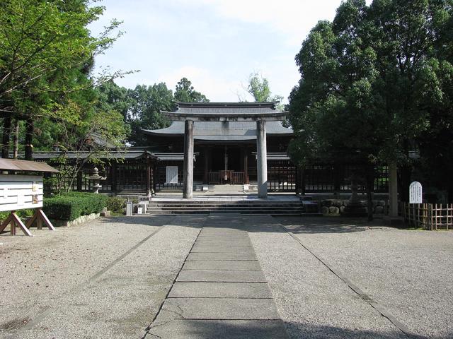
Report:
M268 197L268 162L265 121L282 121L287 112L182 113L162 112L171 121L185 121L183 198L193 197L193 121L256 121L258 198Z

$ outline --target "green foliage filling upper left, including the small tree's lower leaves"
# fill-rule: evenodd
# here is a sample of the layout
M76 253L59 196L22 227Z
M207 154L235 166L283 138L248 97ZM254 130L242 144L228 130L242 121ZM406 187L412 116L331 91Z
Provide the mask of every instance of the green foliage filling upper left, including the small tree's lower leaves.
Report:
M27 133L20 129L25 137L19 136L25 144L25 157L31 156L33 138L38 149L48 149L54 143L77 148L93 135L113 138L110 143L124 140L127 129L117 125L120 112L116 107L97 105L94 89L96 83L122 73L91 74L94 57L122 34L110 36L120 24L113 20L101 35L91 36L87 25L104 9L88 0L7 0L2 4L0 114L5 118L4 157L8 155L11 118L27 121ZM118 128L111 129L114 126Z

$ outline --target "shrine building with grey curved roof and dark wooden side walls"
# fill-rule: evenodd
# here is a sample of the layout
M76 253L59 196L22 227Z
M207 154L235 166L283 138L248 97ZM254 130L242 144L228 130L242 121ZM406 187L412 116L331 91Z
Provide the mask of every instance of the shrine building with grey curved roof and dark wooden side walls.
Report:
M144 130L147 146L111 149L101 155L99 173L103 193L149 195L193 191L348 193L350 177L360 165L335 162L297 167L287 155L292 129L278 102L178 102L173 112L161 112L171 125ZM33 153L34 160L57 165L88 158L88 152ZM71 186L91 191L86 162L76 180L56 175L47 191ZM387 191L387 167L376 167L374 192ZM364 191L361 185L359 190Z

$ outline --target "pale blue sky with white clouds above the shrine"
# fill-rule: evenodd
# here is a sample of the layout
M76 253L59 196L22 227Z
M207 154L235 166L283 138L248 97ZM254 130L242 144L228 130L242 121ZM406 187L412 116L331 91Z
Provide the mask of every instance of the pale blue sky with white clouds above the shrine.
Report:
M103 0L90 29L123 21L125 34L96 59L97 69L139 70L118 78L126 88L188 78L212 102L249 101L251 73L287 97L299 81L294 61L319 20L333 20L341 0Z

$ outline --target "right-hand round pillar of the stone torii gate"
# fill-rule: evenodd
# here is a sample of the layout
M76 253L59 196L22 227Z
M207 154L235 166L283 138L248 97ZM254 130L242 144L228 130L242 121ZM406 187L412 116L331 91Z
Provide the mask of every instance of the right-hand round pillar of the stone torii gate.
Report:
M268 150L266 147L266 121L256 121L256 130L258 198L268 198Z

